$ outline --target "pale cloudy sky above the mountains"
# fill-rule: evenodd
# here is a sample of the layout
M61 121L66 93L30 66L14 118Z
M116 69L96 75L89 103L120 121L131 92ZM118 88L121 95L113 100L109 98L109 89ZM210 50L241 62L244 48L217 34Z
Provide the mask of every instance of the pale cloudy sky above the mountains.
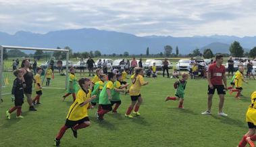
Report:
M256 36L255 0L0 0L0 32L97 28L138 36Z

